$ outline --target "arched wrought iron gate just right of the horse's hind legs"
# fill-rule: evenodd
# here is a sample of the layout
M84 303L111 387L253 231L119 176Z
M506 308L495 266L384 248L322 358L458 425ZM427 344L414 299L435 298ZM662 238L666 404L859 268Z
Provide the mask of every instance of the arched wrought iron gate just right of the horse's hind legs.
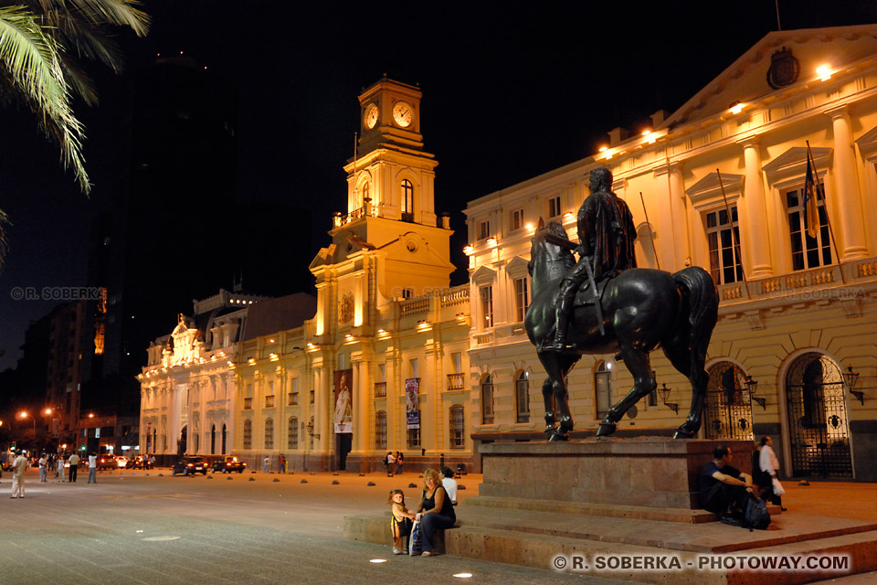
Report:
M709 369L705 424L709 439L752 441L752 397L745 387L743 370L731 362Z

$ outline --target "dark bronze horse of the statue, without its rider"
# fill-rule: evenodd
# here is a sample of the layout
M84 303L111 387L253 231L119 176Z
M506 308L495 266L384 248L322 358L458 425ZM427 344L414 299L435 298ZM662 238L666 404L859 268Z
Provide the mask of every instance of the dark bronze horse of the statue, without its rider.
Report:
M558 245L558 242L563 243L561 240L569 241L563 226L551 222L544 228L540 221L531 244L529 270L533 277L533 302L527 309L524 324L537 350L553 331L558 284L576 263L570 251L574 246ZM573 429L566 376L581 356L620 355L634 379L628 395L609 409L600 422L597 431L600 437L615 432L616 423L629 408L657 387L649 353L658 346L673 367L692 383L692 408L674 436L677 439L693 437L701 428L703 399L709 380L703 366L718 318L719 295L713 277L697 266L675 274L632 268L620 272L605 285L598 283L597 290L602 311L597 311L593 303L593 292L579 292L576 296L567 337L574 349L538 351L539 361L548 374L542 386L545 437L548 441L566 441L567 433Z

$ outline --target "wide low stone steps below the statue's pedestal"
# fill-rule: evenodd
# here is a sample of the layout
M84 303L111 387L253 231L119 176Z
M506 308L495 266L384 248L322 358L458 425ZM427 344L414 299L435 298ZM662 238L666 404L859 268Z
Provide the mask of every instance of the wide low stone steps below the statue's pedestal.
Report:
M551 569L559 556L570 566L575 558L581 558L588 569L576 570L576 573L661 584L798 585L877 569L877 526L852 520L786 515L772 523L768 530L750 532L720 523L686 526L673 522L570 517L479 507L458 508L458 527L444 534L447 554L539 569ZM389 546L388 513L345 517L344 537ZM814 554L849 555L850 568L834 575L800 570L753 572L737 567L697 569L699 555L777 558ZM607 563L612 559L622 562L622 558L630 562L634 558L664 558L664 562L671 563L671 559L676 558L680 567L598 570L599 558Z

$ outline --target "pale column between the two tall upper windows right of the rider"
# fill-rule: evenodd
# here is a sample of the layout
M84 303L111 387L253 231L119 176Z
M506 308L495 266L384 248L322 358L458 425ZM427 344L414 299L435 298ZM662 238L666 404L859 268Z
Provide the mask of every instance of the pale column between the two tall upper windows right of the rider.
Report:
M754 278L770 276L774 267L770 261L769 235L767 233L767 207L765 183L761 176L761 151L758 138L752 136L741 141L745 160L744 213L741 235L745 235L749 260L752 268L748 271Z

